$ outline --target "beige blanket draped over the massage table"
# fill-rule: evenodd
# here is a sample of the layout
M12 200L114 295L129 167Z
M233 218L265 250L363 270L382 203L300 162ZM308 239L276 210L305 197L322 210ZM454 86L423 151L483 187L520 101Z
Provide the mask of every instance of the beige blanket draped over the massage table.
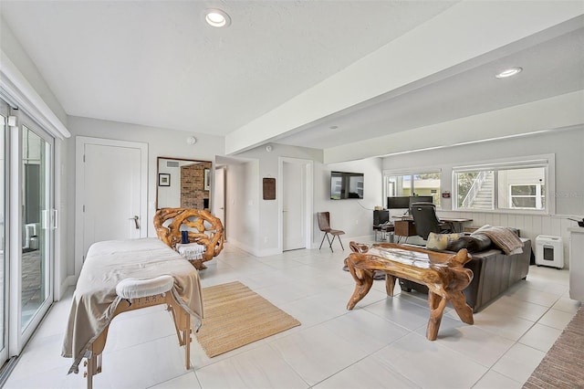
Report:
M172 248L157 238L110 240L89 247L67 323L61 355L74 358L71 372L89 346L106 329L120 297L116 285L122 279L174 278L172 294L190 315L203 319L203 294L198 272Z

